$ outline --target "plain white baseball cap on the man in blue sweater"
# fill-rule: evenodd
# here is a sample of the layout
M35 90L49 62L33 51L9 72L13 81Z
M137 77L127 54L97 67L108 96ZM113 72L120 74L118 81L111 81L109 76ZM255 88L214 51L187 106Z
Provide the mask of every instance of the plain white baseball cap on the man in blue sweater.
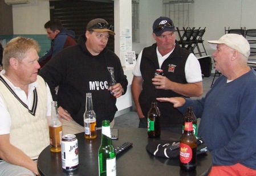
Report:
M228 47L237 50L243 56L250 56L250 44L242 35L236 33L227 33L219 40L208 40L211 48L216 49L217 44L225 44Z

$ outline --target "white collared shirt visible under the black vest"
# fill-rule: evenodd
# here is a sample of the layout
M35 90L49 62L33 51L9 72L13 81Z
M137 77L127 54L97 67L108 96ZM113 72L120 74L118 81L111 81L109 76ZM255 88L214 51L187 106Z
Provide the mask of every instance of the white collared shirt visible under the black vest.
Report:
M156 53L157 53L157 58L159 61L160 68L161 68L162 62L164 62L165 59L168 58L172 52L173 50L167 53L166 55L162 56L159 53L158 49L156 48ZM136 77L141 77L140 62L141 62L142 53L143 51L140 52L136 61L136 65L133 68L132 74ZM188 59L186 60L185 76L186 76L186 82L189 82L189 83L202 81L201 66L196 56L193 55L193 53L190 53L190 55L188 56Z

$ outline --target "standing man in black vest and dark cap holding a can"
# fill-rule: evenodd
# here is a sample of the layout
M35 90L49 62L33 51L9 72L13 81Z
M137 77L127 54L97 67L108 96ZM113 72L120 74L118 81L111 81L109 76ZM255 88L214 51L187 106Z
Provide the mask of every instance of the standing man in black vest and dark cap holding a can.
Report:
M202 76L200 64L176 39L171 19L160 17L153 23L156 43L144 48L133 69L132 96L140 118L139 128L147 128L147 113L157 97L200 97ZM155 76L162 69L164 76ZM182 114L166 102L158 102L161 128L182 132Z

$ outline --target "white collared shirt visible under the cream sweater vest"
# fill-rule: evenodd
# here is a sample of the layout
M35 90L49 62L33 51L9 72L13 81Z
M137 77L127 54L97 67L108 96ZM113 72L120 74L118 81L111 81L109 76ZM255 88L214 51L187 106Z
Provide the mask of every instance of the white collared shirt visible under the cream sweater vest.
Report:
M15 87L13 83L9 81L5 76L5 70L2 70L0 72L0 75L5 79L5 81L8 83L8 85L11 87L11 89L14 91L14 93L22 100L23 103L25 103L30 109L32 106L32 101L34 99L33 97L33 91L35 87L38 86L38 83L35 81L29 85L29 93L28 96L26 95L25 91L21 90L19 87ZM47 83L47 116L51 116L51 91L48 87ZM3 103L3 99L0 97L0 135L5 135L10 133L10 127L11 127L11 117L9 114L9 111L6 109L5 103Z

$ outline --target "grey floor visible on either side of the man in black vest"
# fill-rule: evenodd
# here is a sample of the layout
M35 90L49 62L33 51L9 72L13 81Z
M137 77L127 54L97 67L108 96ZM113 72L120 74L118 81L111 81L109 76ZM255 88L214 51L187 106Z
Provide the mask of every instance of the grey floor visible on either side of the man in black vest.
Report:
M210 90L210 86L212 85L212 81L213 81L214 72L215 70L212 70L212 75L210 77L204 77L202 81L204 93L202 94L201 97L205 97L206 93ZM218 77L216 77L215 80L217 78ZM200 99L201 97L193 97L193 99ZM132 110L131 112L128 112L124 115L117 116L115 118L114 128L119 128L119 127L138 128L138 125L139 125L139 118L137 116L137 112Z

